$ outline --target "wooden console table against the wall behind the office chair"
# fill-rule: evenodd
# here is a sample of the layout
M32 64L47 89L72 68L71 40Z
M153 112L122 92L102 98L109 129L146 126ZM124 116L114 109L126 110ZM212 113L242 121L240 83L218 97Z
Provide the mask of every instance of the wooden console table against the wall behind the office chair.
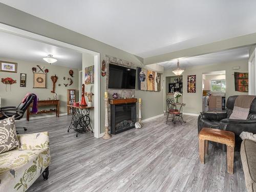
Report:
M27 121L29 121L30 115L36 115L36 114L42 114L42 113L56 113L56 117L59 117L59 100L39 100L37 101L37 108L40 106L56 106L56 109L54 110L44 110L44 111L38 111L37 113L31 113L30 108L32 108L33 103L31 103L27 109Z

